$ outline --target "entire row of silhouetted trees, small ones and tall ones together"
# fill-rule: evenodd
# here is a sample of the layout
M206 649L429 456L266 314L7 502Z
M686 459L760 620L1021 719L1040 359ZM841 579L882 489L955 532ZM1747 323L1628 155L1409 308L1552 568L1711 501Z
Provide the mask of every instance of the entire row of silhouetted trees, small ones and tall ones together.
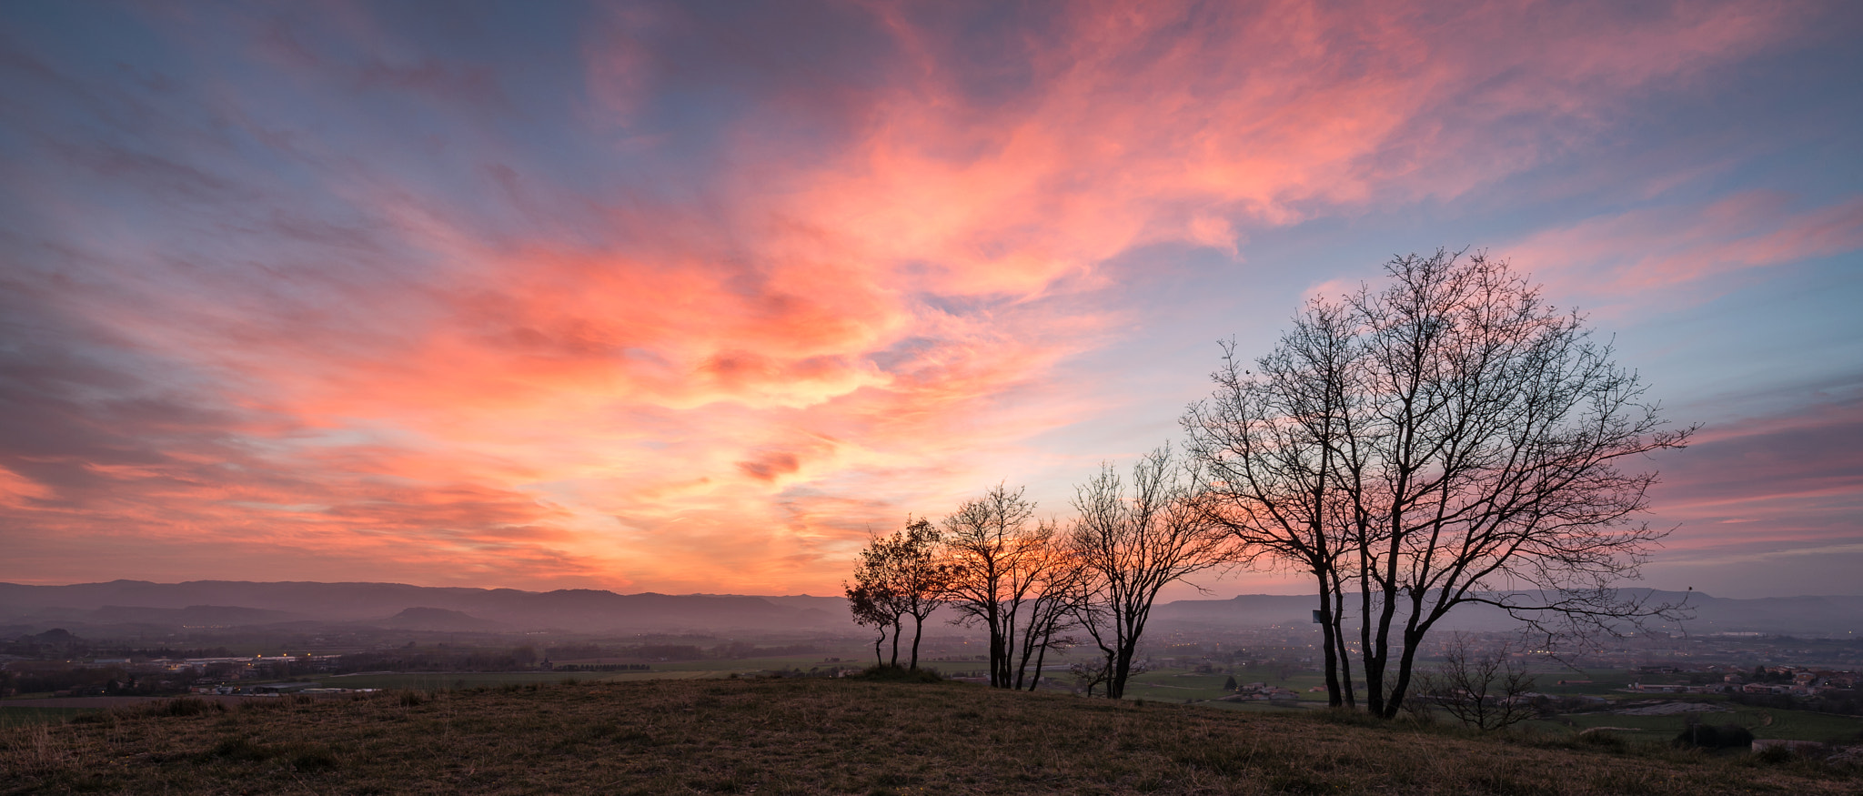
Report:
M1310 302L1252 362L1224 345L1213 393L1181 418L1183 453L1159 449L1129 483L1101 468L1071 524L997 487L876 539L848 585L876 660L891 638L898 666L911 617L917 666L945 604L987 630L993 686L1032 688L1028 666L1079 632L1118 697L1166 583L1291 569L1319 591L1330 703L1358 705L1356 658L1366 708L1392 718L1459 606L1509 611L1535 645L1675 619L1680 606L1615 589L1667 533L1636 522L1654 473L1626 462L1693 429L1669 429L1611 345L1503 261L1438 250L1386 276Z

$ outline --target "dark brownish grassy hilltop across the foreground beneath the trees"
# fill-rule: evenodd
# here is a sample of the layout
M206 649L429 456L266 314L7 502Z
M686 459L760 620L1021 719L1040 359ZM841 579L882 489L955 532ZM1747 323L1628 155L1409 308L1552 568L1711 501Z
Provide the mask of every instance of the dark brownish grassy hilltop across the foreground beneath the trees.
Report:
M551 682L0 729L0 792L1856 794L1818 762L937 682ZM1600 738L1585 736L1585 738Z

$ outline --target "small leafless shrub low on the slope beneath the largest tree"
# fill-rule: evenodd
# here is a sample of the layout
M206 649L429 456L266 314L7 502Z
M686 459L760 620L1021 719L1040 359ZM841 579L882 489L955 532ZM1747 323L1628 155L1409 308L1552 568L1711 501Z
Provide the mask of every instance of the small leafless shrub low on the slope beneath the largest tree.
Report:
M1533 675L1513 660L1515 645L1475 649L1468 636L1455 634L1444 649L1442 664L1416 673L1416 710L1440 707L1462 725L1483 733L1539 716L1530 701Z

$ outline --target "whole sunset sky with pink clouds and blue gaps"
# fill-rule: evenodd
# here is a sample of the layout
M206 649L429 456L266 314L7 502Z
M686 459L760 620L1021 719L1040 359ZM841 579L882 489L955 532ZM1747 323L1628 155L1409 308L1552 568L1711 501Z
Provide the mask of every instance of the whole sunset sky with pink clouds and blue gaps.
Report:
M831 595L999 483L1066 520L1220 339L1446 246L1703 425L1643 585L1859 595L1859 45L1852 2L9 2L0 580Z

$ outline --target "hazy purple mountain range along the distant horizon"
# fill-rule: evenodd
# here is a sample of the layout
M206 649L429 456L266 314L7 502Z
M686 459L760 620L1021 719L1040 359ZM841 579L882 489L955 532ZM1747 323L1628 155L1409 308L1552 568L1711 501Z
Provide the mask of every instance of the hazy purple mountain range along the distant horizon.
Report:
M1863 630L1863 597L1736 600L1703 593L1645 591L1682 602L1690 634L1764 632L1844 636ZM1243 595L1177 600L1153 610L1159 626L1248 628L1308 624L1315 597ZM0 624L13 626L285 626L363 624L440 632L853 632L840 597L617 595L598 589L520 591L404 583L114 580L76 585L0 583ZM1515 623L1483 606L1459 608L1448 628L1507 630ZM1675 630L1675 628L1671 628Z

